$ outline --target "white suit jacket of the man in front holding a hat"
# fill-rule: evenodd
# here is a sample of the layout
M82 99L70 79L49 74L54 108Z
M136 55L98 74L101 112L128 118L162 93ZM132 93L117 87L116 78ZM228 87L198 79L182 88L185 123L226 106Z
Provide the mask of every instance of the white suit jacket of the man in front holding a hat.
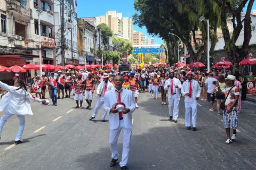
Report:
M108 113L109 116L109 129L115 130L119 127L119 114L118 113L110 113L110 108L117 103L116 98L116 88L111 89L105 93L105 101L104 101L104 110ZM124 128L132 129L132 113L135 110L134 98L131 90L127 90L123 88L121 102L125 104L126 108L130 109L130 112L127 114L123 114Z

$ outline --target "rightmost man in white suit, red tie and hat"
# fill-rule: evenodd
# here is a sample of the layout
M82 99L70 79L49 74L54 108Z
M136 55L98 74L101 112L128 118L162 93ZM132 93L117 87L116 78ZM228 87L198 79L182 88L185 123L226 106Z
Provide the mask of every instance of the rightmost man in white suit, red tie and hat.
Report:
M190 111L192 110L192 125L193 131L196 131L196 116L197 116L197 100L200 97L200 86L197 81L192 79L192 72L187 73L188 80L183 82L181 87L181 94L185 96L185 125L187 130L191 129L190 126Z

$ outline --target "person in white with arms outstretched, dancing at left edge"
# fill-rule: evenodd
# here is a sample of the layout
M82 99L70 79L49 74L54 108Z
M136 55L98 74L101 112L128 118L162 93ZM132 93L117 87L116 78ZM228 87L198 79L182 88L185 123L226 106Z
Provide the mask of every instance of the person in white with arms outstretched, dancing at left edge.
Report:
M29 99L37 101L38 103L42 102L42 104L46 104L46 101L29 94L25 82L21 79L16 79L14 86L8 86L0 81L0 87L8 91L0 102L0 112L4 112L0 120L0 138L4 123L9 120L11 116L17 115L19 118L19 130L14 143L18 145L22 143L21 136L25 127L25 115L33 115Z

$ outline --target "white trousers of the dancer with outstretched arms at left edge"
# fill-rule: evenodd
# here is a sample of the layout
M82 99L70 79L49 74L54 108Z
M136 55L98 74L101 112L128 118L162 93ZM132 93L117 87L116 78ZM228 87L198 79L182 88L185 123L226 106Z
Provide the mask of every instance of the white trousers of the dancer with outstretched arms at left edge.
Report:
M10 117L12 117L14 114L11 114L9 112L5 112L4 115L1 117L1 120L0 120L0 137L1 137L1 133L2 133L2 130L3 130L3 127L4 127L4 123L9 120ZM19 120L20 120L20 126L19 126L19 130L18 130L18 133L17 133L17 136L15 138L15 141L17 140L21 140L21 136L22 136L22 133L23 133L23 130L24 130L24 127L25 127L25 115L17 115Z

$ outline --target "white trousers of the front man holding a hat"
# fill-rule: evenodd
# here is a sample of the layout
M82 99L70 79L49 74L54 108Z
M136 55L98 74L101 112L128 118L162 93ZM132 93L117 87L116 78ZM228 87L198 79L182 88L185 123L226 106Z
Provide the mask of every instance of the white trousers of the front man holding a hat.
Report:
M109 133L109 148L111 151L111 157L114 159L119 158L118 148L117 148L117 140L119 138L120 132L123 132L123 153L122 153L122 161L119 165L126 166L129 158L130 146L131 146L131 136L132 129L124 128L124 121L121 120L119 123L119 127L115 130L110 130Z

